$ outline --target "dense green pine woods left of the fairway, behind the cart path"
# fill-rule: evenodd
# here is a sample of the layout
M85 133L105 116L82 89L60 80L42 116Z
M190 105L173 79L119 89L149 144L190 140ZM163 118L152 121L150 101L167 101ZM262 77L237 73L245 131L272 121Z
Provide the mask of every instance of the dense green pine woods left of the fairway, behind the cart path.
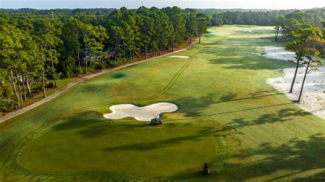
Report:
M21 108L31 84L117 67L173 51L206 32L193 9L0 10L0 112ZM49 80L53 80L49 82Z

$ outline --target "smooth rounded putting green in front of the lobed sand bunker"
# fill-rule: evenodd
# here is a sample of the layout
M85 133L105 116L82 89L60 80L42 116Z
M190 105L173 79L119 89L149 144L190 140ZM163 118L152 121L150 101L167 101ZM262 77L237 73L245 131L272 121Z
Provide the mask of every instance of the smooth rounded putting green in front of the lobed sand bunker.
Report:
M190 124L152 127L147 123L121 125L73 120L32 141L21 151L19 161L34 172L100 169L146 178L177 177L176 174L197 172L202 161L211 163L215 143L208 128ZM212 147L206 148L209 145Z

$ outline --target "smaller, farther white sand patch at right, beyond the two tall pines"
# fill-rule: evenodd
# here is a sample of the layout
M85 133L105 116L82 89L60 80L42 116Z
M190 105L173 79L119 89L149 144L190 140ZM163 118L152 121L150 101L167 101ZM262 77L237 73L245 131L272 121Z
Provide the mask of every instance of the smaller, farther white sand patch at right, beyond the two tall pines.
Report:
M264 46L262 47L263 56L280 60L296 60L296 54L285 50L285 47Z

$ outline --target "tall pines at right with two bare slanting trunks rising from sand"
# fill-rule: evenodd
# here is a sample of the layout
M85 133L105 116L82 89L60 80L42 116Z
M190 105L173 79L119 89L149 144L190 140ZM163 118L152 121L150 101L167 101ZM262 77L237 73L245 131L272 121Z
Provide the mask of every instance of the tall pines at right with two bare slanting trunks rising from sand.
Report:
M324 17L324 14L321 14ZM318 15L317 15L318 16ZM307 73L313 69L317 69L324 64L325 57L325 39L324 39L324 19L314 19L309 12L294 11L285 16L277 16L272 25L275 29L275 41L283 41L286 47L296 53L296 71L293 76L289 93L293 92L293 86L296 82L296 76L300 65L304 65L306 70L302 80L302 87L298 102L302 97L304 82ZM320 17L320 16L318 16ZM320 24L319 22L322 21ZM279 36L280 34L280 36Z

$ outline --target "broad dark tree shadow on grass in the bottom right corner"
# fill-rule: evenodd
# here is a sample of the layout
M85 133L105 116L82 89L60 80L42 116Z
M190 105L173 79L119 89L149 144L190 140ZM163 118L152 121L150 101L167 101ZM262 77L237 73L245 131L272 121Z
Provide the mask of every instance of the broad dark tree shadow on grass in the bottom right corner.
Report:
M306 139L293 138L280 146L261 144L257 149L241 152L231 158L244 161L252 157L258 159L256 157L259 156L263 159L245 164L228 164L220 176L229 181L249 181L256 177L266 177L264 181L319 181L324 177L325 170L324 141L324 134L317 133ZM322 172L310 175L308 172L311 170ZM271 179L269 176L272 176Z

